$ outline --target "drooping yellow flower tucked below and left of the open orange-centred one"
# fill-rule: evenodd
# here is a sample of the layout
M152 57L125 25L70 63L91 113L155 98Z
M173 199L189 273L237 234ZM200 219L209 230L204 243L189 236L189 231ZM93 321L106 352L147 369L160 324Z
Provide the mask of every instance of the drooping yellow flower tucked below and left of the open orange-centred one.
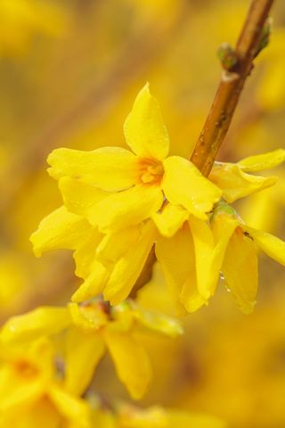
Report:
M73 301L103 292L106 300L118 304L142 272L156 235L152 221L103 235L62 206L42 220L31 241L37 256L47 250L75 250L76 275L85 282L73 294Z

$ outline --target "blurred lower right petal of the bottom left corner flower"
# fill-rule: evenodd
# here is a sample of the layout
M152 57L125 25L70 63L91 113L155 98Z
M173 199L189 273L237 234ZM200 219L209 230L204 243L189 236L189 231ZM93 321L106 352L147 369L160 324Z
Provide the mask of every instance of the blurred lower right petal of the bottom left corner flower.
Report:
M69 394L55 384L49 391L49 397L71 426L74 424L78 428L90 428L90 409L83 399Z

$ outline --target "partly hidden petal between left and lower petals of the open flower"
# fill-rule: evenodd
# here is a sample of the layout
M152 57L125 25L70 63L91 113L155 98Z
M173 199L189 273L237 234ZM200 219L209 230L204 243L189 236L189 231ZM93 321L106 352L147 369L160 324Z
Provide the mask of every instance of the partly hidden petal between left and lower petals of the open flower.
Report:
M59 180L59 188L66 208L78 216L87 216L88 210L109 193L70 177Z

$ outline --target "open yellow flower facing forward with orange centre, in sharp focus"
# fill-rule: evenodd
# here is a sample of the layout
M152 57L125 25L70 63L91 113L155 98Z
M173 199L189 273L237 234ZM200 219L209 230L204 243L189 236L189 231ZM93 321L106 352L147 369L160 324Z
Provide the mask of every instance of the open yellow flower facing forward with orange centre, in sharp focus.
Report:
M101 232L117 231L151 218L165 198L206 219L221 191L191 161L167 157L167 129L148 85L137 95L124 131L132 152L119 147L93 152L61 148L49 155L50 175L69 178L60 181L68 209L76 214L80 211Z

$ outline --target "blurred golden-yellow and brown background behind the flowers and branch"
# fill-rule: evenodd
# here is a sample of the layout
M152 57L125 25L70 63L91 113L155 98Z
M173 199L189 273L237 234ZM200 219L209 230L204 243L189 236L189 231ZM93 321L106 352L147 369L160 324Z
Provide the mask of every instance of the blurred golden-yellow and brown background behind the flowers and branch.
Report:
M124 145L123 122L149 81L171 137L189 156L220 67L249 0L0 1L0 319L69 300L77 279L68 251L36 259L28 237L61 204L48 177L55 147ZM224 146L223 161L284 147L285 4L256 61ZM238 205L251 226L285 238L285 167L277 185ZM274 172L274 173L275 173ZM256 310L240 314L224 284L185 320L182 339L142 338L154 381L142 404L222 416L230 428L285 427L285 271L260 255ZM142 305L172 313L159 268ZM126 397L108 359L94 378L107 398Z

